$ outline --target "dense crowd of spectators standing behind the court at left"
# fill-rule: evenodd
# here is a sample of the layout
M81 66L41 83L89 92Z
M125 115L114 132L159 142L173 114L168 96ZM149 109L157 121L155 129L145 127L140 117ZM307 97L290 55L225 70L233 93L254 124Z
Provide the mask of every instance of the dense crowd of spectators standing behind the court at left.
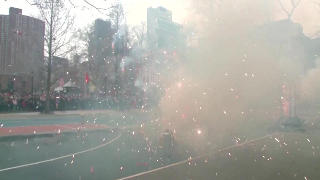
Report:
M140 95L140 94L139 94ZM92 95L87 94L51 94L50 110L54 112L59 110L79 110L79 109L117 109L129 110L143 107L146 102L142 96L132 96L129 94L120 94L118 98L112 95ZM148 98L146 98L148 99ZM150 98L149 98L150 99ZM17 111L39 111L44 112L46 99L44 93L24 93L17 92L0 93L0 112Z

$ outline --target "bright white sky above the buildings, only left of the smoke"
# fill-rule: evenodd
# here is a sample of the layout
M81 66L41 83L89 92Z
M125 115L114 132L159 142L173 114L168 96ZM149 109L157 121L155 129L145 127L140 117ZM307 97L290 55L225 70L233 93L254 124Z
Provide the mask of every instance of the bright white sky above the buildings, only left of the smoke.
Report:
M28 0L31 2L32 0ZM75 5L86 5L92 12L89 10L82 10L81 7L74 9L76 13L75 24L79 27L84 26L87 23L92 22L96 18L108 19L106 15L99 13L94 8L83 3L83 0L71 0ZM122 0L125 6L125 11L127 12L127 22L129 24L138 24L141 21L147 20L147 8L148 7L158 7L163 6L172 11L172 18L178 23L182 23L184 17L186 16L185 7L187 6L184 3L185 0ZM108 7L113 0L89 0L88 2L96 5L97 7ZM16 7L22 9L23 15L30 15L30 13L35 12L35 8L30 6L25 0L1 0L0 5L0 14L8 14L9 7Z

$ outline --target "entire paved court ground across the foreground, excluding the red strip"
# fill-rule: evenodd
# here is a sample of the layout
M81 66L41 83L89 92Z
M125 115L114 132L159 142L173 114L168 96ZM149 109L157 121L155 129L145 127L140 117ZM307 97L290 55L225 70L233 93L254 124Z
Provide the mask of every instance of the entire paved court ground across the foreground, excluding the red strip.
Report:
M0 125L75 124L83 112L68 113L0 115ZM314 117L307 118L303 131L280 127L268 132L265 126L254 131L252 127L257 125L249 122L244 126L250 127L250 132L240 133L239 127L236 137L226 134L219 142L204 146L197 144L204 141L201 135L186 138L186 132L180 132L173 158L166 159L159 139L160 123L150 121L156 113L85 114L87 123L111 128L50 137L0 138L0 179L320 179L320 123ZM279 130L279 134L252 141Z

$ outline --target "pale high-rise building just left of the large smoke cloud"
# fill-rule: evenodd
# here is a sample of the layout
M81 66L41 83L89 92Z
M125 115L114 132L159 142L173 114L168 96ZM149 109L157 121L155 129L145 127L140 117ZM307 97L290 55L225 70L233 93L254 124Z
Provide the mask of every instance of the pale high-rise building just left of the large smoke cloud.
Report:
M147 9L147 45L150 49L180 50L185 46L182 25L172 21L164 7Z

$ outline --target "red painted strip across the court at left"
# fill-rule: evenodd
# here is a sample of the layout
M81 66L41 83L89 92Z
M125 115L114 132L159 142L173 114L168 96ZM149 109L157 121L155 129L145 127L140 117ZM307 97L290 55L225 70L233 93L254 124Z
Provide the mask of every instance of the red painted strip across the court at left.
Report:
M25 126L25 127L0 127L0 136L12 135L32 135L32 134L51 134L78 131L78 130L94 130L106 129L106 125L101 124L58 124L44 126Z

